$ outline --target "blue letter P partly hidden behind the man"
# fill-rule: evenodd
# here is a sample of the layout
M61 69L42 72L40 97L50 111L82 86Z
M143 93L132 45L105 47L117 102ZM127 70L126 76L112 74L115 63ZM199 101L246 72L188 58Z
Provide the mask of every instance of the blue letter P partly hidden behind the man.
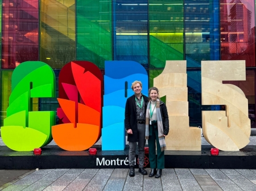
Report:
M103 151L125 149L125 104L127 97L134 94L130 86L135 80L142 82L142 94L147 95L148 75L140 63L105 61Z

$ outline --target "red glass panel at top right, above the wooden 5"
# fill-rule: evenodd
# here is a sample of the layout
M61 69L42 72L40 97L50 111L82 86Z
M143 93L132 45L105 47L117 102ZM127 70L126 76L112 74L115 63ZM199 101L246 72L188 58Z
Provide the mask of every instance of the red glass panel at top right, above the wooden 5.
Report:
M255 66L254 0L220 0L221 60Z

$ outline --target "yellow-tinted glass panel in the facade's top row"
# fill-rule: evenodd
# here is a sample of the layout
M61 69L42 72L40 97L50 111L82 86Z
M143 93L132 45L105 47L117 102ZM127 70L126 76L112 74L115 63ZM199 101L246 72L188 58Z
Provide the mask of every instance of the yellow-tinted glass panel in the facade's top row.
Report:
M61 69L75 60L75 0L40 1L40 61Z

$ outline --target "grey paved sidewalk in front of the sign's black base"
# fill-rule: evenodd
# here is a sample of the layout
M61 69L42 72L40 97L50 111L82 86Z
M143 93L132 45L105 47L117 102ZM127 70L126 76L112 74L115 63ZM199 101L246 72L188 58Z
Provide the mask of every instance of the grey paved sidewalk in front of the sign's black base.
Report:
M163 169L160 179L135 170L134 177L129 169L32 170L0 190L256 190L256 170L250 169Z

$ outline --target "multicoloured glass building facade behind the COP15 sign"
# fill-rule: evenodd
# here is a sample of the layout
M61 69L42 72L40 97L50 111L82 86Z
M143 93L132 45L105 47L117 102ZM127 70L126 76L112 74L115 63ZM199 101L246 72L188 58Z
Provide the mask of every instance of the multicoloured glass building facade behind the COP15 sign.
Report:
M0 0L1 124L19 63L43 61L55 71L84 60L105 72L105 61L135 61L150 87L166 60L187 60L190 126L201 126L201 61L246 60L240 87L255 125L254 0ZM145 88L145 87L144 87ZM56 88L58 91L58 88ZM58 95L58 92L56 92ZM163 98L164 100L164 98ZM56 111L55 99L34 99L34 111ZM57 118L56 118L57 120Z

